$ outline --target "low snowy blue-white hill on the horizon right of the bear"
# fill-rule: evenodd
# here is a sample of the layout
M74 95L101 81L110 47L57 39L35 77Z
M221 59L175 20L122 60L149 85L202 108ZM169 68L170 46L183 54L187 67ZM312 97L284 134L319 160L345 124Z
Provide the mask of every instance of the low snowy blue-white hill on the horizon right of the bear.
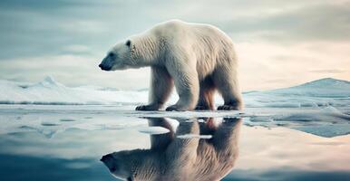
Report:
M295 87L244 93L246 107L301 108L350 105L350 81L331 78Z

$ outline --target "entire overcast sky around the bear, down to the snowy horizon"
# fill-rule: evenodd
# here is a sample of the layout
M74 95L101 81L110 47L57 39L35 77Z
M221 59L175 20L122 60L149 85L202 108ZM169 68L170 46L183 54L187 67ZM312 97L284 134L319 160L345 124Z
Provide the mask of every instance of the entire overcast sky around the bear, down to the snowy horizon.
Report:
M148 68L97 65L114 43L175 18L228 33L242 90L350 81L350 0L1 0L0 79L147 88Z

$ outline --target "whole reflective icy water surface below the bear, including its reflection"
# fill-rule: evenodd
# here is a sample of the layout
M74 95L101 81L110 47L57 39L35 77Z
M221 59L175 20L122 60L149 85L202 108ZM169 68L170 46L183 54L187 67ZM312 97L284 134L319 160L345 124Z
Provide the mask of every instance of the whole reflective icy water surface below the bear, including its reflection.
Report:
M115 180L131 160L143 179L350 180L348 107L133 108L0 105L0 180Z

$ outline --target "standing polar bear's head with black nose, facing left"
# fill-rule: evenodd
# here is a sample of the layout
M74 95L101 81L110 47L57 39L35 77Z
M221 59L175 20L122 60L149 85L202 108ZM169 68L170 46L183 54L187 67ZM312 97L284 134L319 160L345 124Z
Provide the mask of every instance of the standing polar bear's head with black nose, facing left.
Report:
M99 67L103 71L124 70L132 67L132 47L131 40L125 43L117 43L107 52Z

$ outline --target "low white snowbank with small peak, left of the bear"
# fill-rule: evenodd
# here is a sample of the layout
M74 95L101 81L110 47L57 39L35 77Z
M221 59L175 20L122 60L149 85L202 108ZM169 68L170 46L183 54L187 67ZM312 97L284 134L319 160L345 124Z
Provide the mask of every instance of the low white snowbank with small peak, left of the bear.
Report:
M146 91L123 91L98 86L70 88L46 77L35 84L0 81L3 104L118 104L147 101Z

